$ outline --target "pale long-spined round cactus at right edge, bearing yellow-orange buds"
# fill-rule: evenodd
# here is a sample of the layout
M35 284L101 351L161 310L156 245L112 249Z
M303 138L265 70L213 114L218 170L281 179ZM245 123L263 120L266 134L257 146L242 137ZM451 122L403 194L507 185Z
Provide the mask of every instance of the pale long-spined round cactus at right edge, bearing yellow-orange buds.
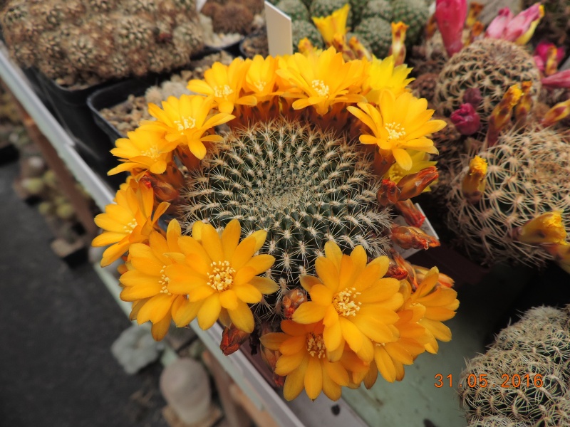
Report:
M455 58L455 57L454 57ZM515 67L515 65L513 65ZM447 221L465 251L483 263L543 265L551 256L514 238L514 230L548 211L565 211L570 229L570 152L562 135L549 128L510 130L497 145L480 152L488 163L485 189L477 204L462 194L470 159L461 161L447 195Z

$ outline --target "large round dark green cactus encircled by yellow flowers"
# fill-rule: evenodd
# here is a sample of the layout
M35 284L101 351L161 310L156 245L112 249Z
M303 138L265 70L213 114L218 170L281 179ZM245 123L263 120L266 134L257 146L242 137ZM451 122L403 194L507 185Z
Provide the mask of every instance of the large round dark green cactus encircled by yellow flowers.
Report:
M279 296L312 274L327 241L343 251L361 245L371 256L386 251L378 232L389 212L374 208L371 164L333 133L277 120L234 130L188 185L182 211L195 221L242 230L264 228L262 253L276 258L271 278Z

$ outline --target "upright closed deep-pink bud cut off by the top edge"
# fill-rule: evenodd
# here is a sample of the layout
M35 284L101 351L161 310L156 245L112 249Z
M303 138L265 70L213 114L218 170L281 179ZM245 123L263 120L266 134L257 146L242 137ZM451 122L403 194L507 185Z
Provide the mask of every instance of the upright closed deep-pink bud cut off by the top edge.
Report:
M448 56L453 56L463 47L462 31L467 16L467 0L436 0L435 21Z

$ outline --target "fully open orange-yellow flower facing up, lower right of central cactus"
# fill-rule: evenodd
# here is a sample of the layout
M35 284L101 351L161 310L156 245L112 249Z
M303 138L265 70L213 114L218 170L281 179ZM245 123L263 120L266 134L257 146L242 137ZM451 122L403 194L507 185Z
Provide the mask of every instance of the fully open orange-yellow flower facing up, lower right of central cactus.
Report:
M318 278L301 276L301 285L309 292L311 301L295 310L293 320L303 324L322 320L329 352L343 349L346 342L358 357L370 362L373 341L391 342L396 338L389 325L398 321L395 312L403 304L403 296L398 292L400 283L383 278L388 271L388 257L381 256L367 265L362 246L356 246L348 256L329 241L325 254L315 262Z

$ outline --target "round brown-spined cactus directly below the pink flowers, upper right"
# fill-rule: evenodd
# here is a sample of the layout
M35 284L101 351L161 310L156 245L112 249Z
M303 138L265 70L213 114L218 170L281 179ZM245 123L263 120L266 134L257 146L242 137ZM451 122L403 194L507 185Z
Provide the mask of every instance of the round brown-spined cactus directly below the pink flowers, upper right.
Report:
M435 89L437 112L451 115L463 103L465 90L477 88L483 100L476 111L482 125L486 125L507 89L524 81L532 82L531 94L536 100L541 88L540 72L522 46L494 38L475 41L442 69Z

